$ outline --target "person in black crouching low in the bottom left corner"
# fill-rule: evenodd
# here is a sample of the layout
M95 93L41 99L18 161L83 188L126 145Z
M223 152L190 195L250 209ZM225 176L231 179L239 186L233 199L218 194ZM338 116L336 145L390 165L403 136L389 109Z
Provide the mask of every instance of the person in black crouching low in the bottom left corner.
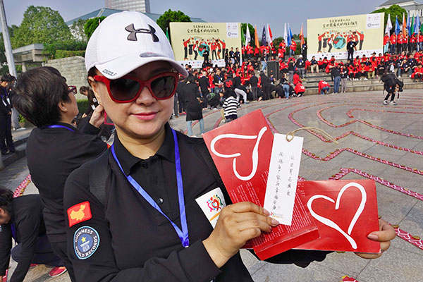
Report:
M18 243L13 249L12 238ZM66 272L47 239L39 195L13 198L11 190L0 188L0 281L11 256L18 262L11 281L23 281L30 264L55 266L50 276Z

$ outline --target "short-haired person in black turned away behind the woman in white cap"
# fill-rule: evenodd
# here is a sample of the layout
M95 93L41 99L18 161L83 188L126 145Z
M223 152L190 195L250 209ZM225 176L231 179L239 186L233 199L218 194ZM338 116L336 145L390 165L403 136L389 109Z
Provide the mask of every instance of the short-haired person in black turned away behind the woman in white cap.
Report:
M37 127L27 141L27 164L42 200L47 237L75 281L66 250L63 188L75 168L106 149L106 143L97 136L104 111L97 106L81 132L74 128L71 123L78 114L75 88L68 89L59 71L51 67L23 73L15 91L12 100L16 109Z

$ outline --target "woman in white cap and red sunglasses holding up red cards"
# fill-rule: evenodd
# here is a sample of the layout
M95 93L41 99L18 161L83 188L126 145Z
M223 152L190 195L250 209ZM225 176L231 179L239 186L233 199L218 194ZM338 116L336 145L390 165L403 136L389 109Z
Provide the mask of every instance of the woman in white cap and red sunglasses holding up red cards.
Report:
M117 135L66 182L77 280L252 281L238 251L278 222L248 202L224 207L214 228L202 212L210 197L230 199L202 139L168 125L178 73L187 73L164 32L142 13L116 13L95 30L85 60ZM307 266L325 256L291 250L271 261Z

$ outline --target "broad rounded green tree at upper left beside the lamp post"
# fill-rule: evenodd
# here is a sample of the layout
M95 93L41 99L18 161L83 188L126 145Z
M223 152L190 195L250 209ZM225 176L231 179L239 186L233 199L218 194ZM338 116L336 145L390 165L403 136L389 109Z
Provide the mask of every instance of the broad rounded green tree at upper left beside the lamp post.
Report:
M34 43L54 43L71 37L71 31L58 11L49 7L29 6L11 42L13 48L18 48Z

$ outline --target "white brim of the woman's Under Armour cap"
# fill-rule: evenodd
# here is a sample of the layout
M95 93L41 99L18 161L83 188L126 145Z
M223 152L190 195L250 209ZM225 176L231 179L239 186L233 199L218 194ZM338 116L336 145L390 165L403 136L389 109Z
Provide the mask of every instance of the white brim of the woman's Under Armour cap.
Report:
M173 68L176 69L176 71L178 71L178 73L183 76L188 76L188 72L182 65L166 56L151 56L146 58L139 56L139 54L128 54L127 56L122 56L113 61L100 63L95 67L106 78L114 80L123 77L123 75L127 75L128 73L135 70L136 68L139 68L140 66L144 66L145 64L154 61L167 61L171 64Z

